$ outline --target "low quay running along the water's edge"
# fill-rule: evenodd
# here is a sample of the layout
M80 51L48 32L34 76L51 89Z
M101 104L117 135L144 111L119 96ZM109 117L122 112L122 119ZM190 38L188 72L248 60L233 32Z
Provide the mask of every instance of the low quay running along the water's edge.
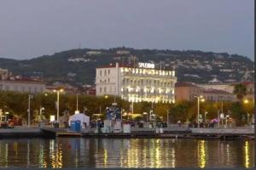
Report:
M166 139L254 139L254 129L251 127L232 128L189 128L168 127L162 132L156 128L133 127L131 133L96 133L95 128L85 128L81 132L69 128L54 127L14 127L0 128L0 139L7 138L166 138Z

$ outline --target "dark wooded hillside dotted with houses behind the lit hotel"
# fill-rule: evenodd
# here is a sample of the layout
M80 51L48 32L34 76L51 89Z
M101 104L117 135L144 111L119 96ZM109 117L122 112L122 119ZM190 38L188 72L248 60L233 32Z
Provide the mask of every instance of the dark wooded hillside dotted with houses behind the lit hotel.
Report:
M41 75L44 81L94 84L96 67L119 62L133 65L134 60L152 62L162 69L177 71L178 82L209 82L217 77L222 82L240 81L254 63L237 54L159 49L73 49L34 59L0 59L0 68L24 77ZM252 75L253 76L253 75Z

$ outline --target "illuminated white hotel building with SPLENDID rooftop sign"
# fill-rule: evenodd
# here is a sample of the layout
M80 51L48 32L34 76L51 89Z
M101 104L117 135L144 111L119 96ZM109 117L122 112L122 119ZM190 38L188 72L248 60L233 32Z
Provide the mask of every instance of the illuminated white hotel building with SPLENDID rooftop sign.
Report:
M163 71L153 64L137 68L110 65L96 68L96 95L117 95L131 102L174 103L175 71Z

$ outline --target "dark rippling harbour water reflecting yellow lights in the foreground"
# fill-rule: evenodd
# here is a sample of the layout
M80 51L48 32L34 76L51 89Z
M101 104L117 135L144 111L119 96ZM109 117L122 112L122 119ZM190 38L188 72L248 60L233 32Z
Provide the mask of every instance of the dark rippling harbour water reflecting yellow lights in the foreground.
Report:
M253 141L0 139L0 167L253 167Z

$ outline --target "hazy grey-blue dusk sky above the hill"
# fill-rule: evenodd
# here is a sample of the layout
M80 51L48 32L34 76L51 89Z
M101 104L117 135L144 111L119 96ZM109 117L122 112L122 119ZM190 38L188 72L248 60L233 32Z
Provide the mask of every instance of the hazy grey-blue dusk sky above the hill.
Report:
M253 59L253 0L1 0L0 57L160 48Z

